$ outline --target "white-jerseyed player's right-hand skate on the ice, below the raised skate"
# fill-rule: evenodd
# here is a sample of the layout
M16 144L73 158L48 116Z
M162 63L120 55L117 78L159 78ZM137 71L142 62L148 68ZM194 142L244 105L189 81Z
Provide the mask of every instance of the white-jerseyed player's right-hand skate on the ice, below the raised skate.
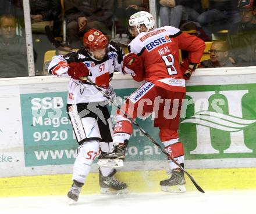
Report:
M115 175L116 170L108 176L103 176L99 170L99 186L101 187L102 194L126 194L128 193L126 183L119 182Z

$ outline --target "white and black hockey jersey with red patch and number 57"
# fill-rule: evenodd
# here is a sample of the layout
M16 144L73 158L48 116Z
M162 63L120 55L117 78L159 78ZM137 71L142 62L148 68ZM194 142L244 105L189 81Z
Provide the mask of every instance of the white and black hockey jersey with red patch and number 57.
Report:
M113 77L114 71L122 72L123 57L125 56L122 48L116 43L109 43L108 54L103 60L97 61L91 58L86 50L81 49L77 52L70 52L65 56L54 56L48 67L48 72L57 77L69 77L67 70L71 62L83 62L90 71L90 79L101 87L109 96L114 96L112 86L109 84ZM107 100L106 97L99 92L88 81L79 81L70 78L68 86L67 103L90 103Z

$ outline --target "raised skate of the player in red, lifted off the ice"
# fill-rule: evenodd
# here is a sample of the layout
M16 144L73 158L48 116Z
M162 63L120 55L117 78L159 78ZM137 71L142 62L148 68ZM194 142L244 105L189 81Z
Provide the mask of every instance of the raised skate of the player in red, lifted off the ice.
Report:
M125 160L125 150L128 145L128 140L115 146L111 153L102 154L98 158L97 164L105 167L121 168Z

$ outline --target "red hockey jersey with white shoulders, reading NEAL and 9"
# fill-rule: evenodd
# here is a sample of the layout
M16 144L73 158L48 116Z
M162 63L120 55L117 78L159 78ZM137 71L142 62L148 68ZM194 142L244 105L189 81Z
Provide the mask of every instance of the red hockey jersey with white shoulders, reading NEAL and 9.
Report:
M128 46L144 63L144 73L136 81L147 80L167 90L186 92L185 79L179 65L179 49L189 52L190 63L200 63L205 43L175 27L165 26L141 32Z

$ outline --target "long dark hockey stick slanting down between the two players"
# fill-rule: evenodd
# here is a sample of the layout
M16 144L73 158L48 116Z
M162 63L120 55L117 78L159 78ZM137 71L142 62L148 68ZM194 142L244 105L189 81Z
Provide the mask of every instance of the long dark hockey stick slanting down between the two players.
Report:
M122 111L122 113L125 115L125 117L128 118L128 115L121 109L120 106L118 106L112 99L111 97L109 97L98 85L96 85L93 81L91 81L91 79L89 77L84 78L84 80L88 80L95 88L97 88L99 90L99 92L102 93L102 95L104 95L106 97L106 99L108 99L109 101L111 101L111 103L113 105L115 105L120 111ZM197 182L195 182L194 178L173 158L171 157L143 128L141 128L140 125L137 124L137 122L134 121L134 119L129 118L130 121L136 125L138 127L138 129L140 129L140 131L148 137L148 139L151 140L152 143L155 144L155 146L157 146L163 154L167 155L167 157L169 159L171 159L177 166L179 166L179 168L186 173L186 175L190 178L191 182L193 182L194 186L197 188L198 191L200 191L201 193L204 193L204 190L202 190L202 188L197 184Z

